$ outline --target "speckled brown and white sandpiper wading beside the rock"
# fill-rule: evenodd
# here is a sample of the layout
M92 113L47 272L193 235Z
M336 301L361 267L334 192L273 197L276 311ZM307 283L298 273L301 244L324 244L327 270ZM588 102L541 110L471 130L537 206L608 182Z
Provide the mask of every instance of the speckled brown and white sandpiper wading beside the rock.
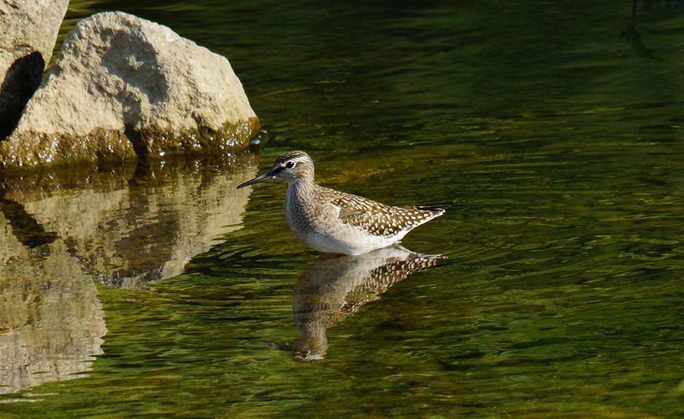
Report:
M444 214L448 207L392 207L316 185L314 162L303 151L281 155L271 170L238 189L268 179L288 181L285 215L290 229L301 242L324 253L361 255L382 249Z

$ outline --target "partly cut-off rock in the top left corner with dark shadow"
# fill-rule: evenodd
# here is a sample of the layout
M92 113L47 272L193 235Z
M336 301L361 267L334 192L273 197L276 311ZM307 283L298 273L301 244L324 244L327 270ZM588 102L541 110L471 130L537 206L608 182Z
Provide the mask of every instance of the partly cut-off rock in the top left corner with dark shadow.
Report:
M68 0L0 0L0 140L8 136L52 57Z

